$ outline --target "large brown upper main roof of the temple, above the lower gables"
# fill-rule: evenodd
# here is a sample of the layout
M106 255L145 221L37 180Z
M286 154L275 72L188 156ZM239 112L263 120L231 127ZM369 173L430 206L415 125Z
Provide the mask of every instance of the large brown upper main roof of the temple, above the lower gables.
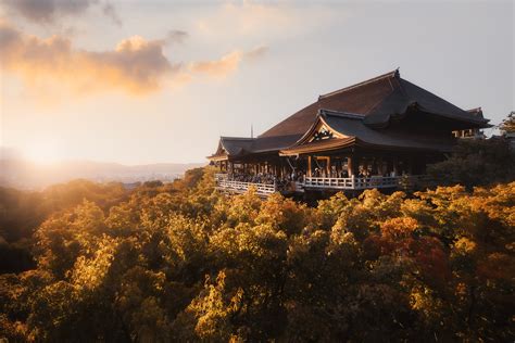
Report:
M399 69L363 82L318 97L311 105L292 114L261 137L303 135L310 129L319 110L352 113L375 127L385 127L392 117L402 117L409 109L469 123L472 127L488 127L488 119L464 111L434 93L401 78Z

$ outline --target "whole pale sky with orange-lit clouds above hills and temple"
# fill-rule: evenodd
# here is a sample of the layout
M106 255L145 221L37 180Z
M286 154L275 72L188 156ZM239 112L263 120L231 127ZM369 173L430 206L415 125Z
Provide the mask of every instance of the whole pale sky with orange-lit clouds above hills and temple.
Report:
M499 124L515 110L514 15L495 0L0 0L0 148L203 162L219 136L397 67Z

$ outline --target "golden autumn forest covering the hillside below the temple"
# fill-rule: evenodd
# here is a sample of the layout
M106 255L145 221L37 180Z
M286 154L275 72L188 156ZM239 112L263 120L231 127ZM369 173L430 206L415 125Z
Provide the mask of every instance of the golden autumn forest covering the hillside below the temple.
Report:
M27 195L55 211L24 218L36 264L0 276L0 338L514 340L515 182L309 207L212 179Z

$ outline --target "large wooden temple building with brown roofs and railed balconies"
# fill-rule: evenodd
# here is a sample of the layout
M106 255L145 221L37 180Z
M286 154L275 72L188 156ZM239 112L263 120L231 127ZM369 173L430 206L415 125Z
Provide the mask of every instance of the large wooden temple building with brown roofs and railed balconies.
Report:
M399 69L319 96L256 138L221 137L209 156L217 188L243 192L394 189L490 127L401 78Z

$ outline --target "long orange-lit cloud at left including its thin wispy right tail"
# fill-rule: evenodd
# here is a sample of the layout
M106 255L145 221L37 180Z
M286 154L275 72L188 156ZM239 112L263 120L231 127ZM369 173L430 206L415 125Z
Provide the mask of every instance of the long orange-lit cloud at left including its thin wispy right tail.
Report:
M163 48L171 37L179 41L185 36L184 31L173 31L166 39L158 40L134 36L113 50L88 51L73 47L68 38L42 39L0 22L0 66L2 73L21 76L29 89L49 99L54 89L77 94L104 90L146 94L165 86L190 82L196 75L225 77L241 63L262 59L268 50L261 46L249 51L234 50L217 60L173 63Z

